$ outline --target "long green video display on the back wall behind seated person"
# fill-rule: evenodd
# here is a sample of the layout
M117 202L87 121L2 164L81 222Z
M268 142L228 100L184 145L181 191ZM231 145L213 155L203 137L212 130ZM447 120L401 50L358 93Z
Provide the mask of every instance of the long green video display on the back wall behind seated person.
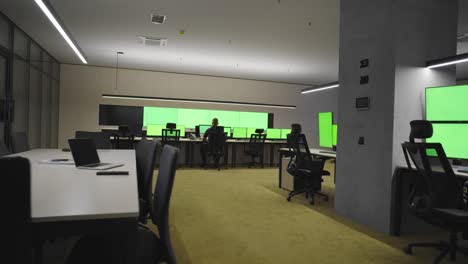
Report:
M268 127L268 113L166 107L144 107L143 126L176 123L194 128L199 124L211 124L214 117L218 118L220 126Z

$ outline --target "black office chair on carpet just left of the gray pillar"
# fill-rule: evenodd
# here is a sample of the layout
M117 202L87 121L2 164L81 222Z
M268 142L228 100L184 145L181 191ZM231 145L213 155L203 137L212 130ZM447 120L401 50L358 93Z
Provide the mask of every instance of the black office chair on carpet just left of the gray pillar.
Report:
M322 196L325 201L328 201L328 195L320 192L322 176L324 176L324 161L312 157L304 134L289 134L288 145L294 156L288 164L287 171L302 181L303 188L289 192L287 200L291 201L293 196L305 193L306 198L309 196L311 198L310 204L314 204L315 195Z

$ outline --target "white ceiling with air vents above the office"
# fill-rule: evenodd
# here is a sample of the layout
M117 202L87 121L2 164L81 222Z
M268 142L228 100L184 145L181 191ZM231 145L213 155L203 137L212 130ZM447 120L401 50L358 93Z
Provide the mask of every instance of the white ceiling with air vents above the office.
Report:
M34 0L1 2L60 62L81 63ZM339 0L50 2L90 65L115 67L116 52L124 51L122 68L311 85L338 79ZM153 12L166 22L151 24ZM138 35L168 38L168 46L142 46Z

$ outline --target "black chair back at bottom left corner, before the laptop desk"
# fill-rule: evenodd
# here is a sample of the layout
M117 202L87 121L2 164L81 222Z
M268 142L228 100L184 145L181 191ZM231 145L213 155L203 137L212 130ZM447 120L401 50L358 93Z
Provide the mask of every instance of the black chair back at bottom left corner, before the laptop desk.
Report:
M8 217L2 219L2 258L10 263L33 263L29 161L21 157L0 158L0 171L0 203L8 212Z

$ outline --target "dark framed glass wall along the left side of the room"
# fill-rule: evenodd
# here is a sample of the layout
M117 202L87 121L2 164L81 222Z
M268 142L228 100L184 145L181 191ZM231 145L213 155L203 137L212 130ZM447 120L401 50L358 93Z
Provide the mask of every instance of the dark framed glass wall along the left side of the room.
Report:
M25 132L31 148L56 148L60 63L1 12L0 55L0 102L10 117L0 120L0 141Z

